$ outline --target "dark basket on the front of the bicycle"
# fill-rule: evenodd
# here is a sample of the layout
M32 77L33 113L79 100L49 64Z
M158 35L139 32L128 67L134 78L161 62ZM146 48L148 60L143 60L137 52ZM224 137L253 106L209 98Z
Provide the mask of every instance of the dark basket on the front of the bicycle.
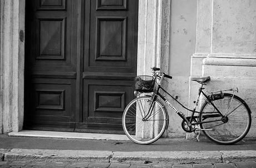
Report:
M151 76L141 75L135 77L135 90L141 93L154 91L155 79Z

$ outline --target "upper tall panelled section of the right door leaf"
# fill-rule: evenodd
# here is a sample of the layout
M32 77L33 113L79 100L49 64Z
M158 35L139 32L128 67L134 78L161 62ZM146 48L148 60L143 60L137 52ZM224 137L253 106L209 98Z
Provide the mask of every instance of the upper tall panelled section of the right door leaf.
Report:
M85 29L90 29L90 33L85 36L88 50L85 50L83 72L136 74L138 2L127 1L129 8L126 11L117 8L97 9L102 2L110 3L90 1L89 6L86 6L90 17L85 17ZM118 7L119 2L112 1L111 6Z

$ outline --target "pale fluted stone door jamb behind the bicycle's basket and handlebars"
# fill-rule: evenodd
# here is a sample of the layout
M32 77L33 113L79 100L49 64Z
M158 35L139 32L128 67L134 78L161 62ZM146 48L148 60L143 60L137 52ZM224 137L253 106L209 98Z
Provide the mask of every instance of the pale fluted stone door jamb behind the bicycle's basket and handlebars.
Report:
M138 20L137 74L151 75L154 66L168 72L170 0L140 0Z

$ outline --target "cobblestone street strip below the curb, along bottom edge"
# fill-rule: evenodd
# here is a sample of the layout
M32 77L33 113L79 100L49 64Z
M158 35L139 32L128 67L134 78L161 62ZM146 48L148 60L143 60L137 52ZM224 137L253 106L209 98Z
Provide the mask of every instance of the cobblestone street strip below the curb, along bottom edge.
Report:
M22 162L22 161L13 161L13 162L6 162L6 161L0 161L0 167L109 167L109 168L136 168L136 167L142 167L142 168L154 168L154 167L171 167L171 168L256 168L256 162L250 161L250 162L235 162L235 163L229 163L229 164L191 164L191 165L168 165L168 164L120 164L120 163L94 163L94 162Z

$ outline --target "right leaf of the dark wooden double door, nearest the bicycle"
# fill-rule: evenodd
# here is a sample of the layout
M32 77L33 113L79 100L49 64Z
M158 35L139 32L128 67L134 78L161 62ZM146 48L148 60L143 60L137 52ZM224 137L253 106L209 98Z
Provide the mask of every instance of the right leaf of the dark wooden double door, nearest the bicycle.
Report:
M83 108L76 131L123 133L121 118L134 98L137 0L85 1Z

